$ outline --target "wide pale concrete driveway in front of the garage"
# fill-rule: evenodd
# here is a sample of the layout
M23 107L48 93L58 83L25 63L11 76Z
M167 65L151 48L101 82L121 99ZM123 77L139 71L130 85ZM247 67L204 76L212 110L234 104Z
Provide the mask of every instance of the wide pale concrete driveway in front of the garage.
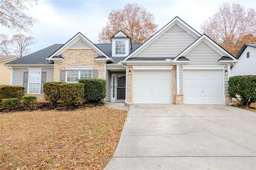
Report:
M256 113L224 105L131 105L106 170L256 169Z

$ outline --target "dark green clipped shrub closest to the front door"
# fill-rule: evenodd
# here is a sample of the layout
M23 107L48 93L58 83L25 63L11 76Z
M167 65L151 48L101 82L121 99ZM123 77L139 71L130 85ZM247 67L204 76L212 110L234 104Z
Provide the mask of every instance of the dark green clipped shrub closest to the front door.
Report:
M106 80L103 79L80 79L84 84L84 98L88 102L99 102L106 97Z

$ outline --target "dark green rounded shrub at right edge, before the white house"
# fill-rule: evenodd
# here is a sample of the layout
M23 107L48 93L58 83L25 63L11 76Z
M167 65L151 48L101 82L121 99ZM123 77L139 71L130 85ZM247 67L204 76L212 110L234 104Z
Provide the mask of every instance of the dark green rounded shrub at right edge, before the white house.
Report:
M228 93L242 105L256 102L256 75L238 75L228 80Z

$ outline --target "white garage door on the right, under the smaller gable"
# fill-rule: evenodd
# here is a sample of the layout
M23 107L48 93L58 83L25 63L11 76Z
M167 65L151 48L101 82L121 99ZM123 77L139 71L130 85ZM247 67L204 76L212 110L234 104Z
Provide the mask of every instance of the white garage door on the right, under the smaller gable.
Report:
M184 70L184 104L223 105L222 70Z

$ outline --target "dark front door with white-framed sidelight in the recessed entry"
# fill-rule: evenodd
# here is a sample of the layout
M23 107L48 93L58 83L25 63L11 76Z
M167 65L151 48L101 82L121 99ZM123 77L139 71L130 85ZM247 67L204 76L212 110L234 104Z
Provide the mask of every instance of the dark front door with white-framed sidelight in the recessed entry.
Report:
M111 101L125 100L126 75L112 74Z

